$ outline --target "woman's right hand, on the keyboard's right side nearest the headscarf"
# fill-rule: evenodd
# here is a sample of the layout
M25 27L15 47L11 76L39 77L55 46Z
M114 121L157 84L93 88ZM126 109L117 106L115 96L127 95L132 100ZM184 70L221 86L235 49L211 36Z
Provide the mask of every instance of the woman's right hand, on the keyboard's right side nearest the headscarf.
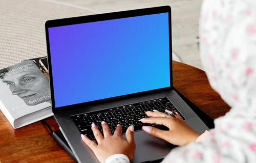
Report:
M152 126L143 126L142 130L178 146L195 142L201 134L187 125L178 113L176 114L177 118L169 115L164 118L166 116L165 113L146 112L146 115L150 118L141 119L141 122L164 125L169 128L169 131L160 130Z

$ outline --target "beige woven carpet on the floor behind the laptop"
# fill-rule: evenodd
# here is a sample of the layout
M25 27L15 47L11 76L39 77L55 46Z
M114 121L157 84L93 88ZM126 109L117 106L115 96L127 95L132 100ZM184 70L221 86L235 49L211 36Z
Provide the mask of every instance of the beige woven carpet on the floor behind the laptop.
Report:
M99 13L54 0L1 0L0 6L0 69L47 56L46 20ZM180 61L176 55L173 59Z

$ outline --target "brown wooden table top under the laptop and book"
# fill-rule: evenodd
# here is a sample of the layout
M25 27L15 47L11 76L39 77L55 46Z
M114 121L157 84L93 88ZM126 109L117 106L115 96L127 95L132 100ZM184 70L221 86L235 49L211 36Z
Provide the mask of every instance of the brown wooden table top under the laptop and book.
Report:
M204 71L173 62L174 87L187 99L216 119L224 116L230 107L211 89ZM53 117L45 120L53 130L58 125ZM36 122L13 129L0 112L0 162L74 162L52 138L48 128Z

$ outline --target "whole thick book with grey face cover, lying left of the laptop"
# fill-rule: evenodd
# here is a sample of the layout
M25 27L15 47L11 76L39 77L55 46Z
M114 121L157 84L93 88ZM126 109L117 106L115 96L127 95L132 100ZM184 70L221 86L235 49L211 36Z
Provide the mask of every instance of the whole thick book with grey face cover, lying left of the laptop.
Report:
M53 116L50 83L32 60L0 70L0 108L13 128Z

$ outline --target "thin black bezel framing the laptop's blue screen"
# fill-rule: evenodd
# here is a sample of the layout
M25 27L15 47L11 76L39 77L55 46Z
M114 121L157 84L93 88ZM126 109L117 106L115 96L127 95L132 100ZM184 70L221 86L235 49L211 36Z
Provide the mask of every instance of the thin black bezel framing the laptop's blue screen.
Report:
M119 19L119 18L126 18L126 17L134 17L134 16L142 16L142 15L150 15L150 14L159 14L159 13L168 13L168 18L169 18L168 21L169 21L170 87L156 89L156 90L150 90L150 91L145 91L145 92L139 92L139 93L134 93L134 94L129 94L129 95L111 97L111 98L101 99L101 100L96 100L96 101L83 102L83 103L78 103L78 104L73 104L73 105L68 105L68 106L61 106L61 107L55 108L53 78L52 78L51 52L50 52L48 28L56 27L56 26L63 26L63 25L72 25L72 24L80 24L80 23L87 23L87 22ZM146 94L153 94L153 93L158 93L158 92L162 92L162 91L165 91L165 90L173 89L172 15L171 15L170 6L161 6L161 7L153 7L153 8L146 8L146 9L130 10L130 11L120 11L120 12L113 12L113 13L88 15L88 16L80 16L80 17L71 17L71 18L56 19L56 20L48 20L45 23L45 28L46 28L47 56L48 56L49 80L50 80L51 101L52 101L52 111L53 111L53 113L56 113L58 111L63 111L63 110L72 110L72 109L75 109L75 108L81 108L81 107L85 107L85 106L105 103L106 101L132 98L132 97L142 96L142 95L146 95ZM63 70L63 71L65 71L65 70Z

